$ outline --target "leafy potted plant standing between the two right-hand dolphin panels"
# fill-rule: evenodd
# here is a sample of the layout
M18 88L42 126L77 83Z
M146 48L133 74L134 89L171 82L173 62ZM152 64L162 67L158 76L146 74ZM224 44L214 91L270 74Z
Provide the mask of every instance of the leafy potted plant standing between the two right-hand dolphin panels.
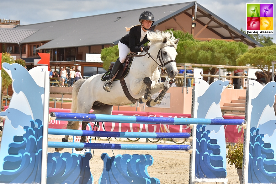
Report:
M236 144L228 144L228 152L226 154L226 158L228 160L228 164L234 165L237 173L239 175L239 180L241 183L241 173L242 173L242 156L243 156L243 143L242 143L242 137L241 139L237 141Z

